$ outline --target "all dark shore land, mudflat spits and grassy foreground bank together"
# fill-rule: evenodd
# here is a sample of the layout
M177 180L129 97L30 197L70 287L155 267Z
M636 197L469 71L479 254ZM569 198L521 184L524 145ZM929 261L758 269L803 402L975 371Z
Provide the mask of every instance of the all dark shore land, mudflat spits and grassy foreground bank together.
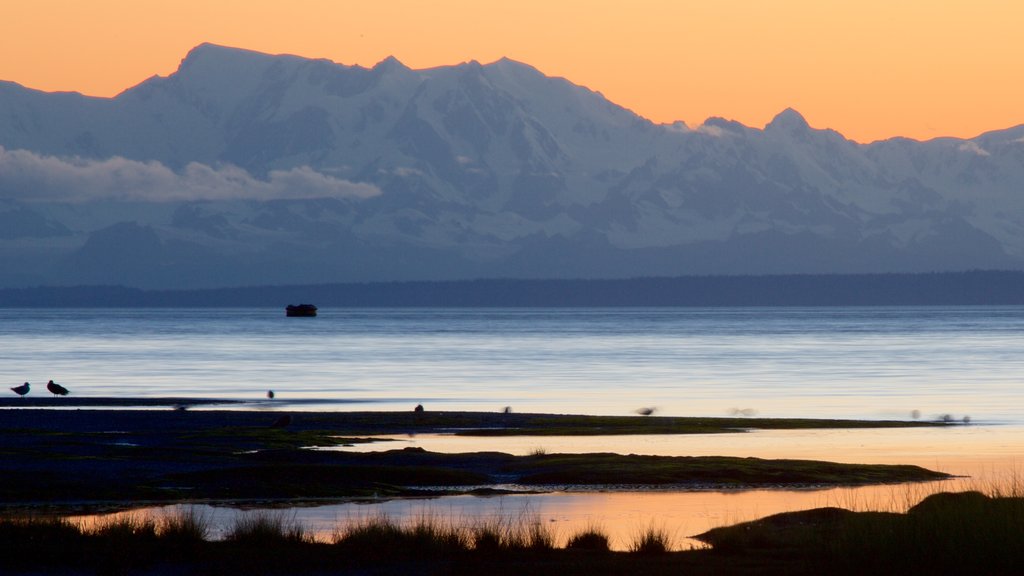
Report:
M181 405L174 406L196 406ZM612 552L599 530L553 545L543 525L511 531L378 520L314 541L274 517L211 540L201 518L126 518L86 531L39 511L152 502L258 502L494 491L853 485L946 478L918 466L620 454L512 456L315 450L373 435L740 434L756 427L892 427L929 422L597 417L465 412L158 409L0 410L0 571L11 574L892 574L1012 573L1024 559L1019 494L940 494L905 515L823 508L698 536L672 551L656 528ZM939 424L942 425L942 424ZM572 430L571 433L567 430ZM280 520L280 519L279 519ZM522 522L522 521L520 521ZM269 524L268 524L269 523ZM496 530L498 530L496 532Z

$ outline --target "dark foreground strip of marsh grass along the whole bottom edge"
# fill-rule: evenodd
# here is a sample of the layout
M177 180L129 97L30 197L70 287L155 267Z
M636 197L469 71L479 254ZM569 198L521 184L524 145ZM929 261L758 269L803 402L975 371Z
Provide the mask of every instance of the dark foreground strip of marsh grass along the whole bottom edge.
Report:
M694 567L709 558L719 559L717 566L740 559L775 574L792 567L809 574L1019 573L1024 565L1021 484L1015 479L982 488L927 494L910 485L876 502L847 502L860 506L859 511L825 507L775 515L716 529L714 541L707 539L714 547L690 556L656 525L639 530L626 552L610 552L607 533L593 526L569 536L559 549L552 525L526 512L496 515L476 524L430 515L406 523L370 517L339 529L333 543L313 541L294 516L281 511L240 516L223 542L211 541L209 519L188 508L157 520L117 515L89 526L0 517L0 573L10 567L15 573L38 574L179 568L187 573L213 562L223 568L220 573L332 573L383 566L390 572L381 574L399 574L422 573L427 566L437 567L436 573L458 568L463 572L456 573L497 576L527 573L534 564L547 566L545 573L562 573L571 564L587 566L593 575L634 568L666 574L678 573L680 563ZM595 571L604 565L611 572ZM717 572L711 567L702 573Z

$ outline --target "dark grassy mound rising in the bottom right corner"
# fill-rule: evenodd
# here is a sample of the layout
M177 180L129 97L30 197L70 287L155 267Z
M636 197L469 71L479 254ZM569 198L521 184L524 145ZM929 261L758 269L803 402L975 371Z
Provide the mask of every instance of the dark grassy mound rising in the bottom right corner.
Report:
M1024 565L1024 492L1010 481L894 487L874 501L774 515L707 533L713 550L784 550L829 574L1013 574ZM945 491L942 491L945 489Z

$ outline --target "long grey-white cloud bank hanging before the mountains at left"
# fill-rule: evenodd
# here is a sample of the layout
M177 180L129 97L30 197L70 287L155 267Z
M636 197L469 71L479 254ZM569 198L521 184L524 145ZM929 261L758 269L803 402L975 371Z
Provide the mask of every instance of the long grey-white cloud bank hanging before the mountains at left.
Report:
M160 162L115 156L106 160L56 158L0 147L0 198L39 202L123 200L299 200L370 198L369 183L336 178L308 166L272 170L261 180L237 166L193 162L175 172Z

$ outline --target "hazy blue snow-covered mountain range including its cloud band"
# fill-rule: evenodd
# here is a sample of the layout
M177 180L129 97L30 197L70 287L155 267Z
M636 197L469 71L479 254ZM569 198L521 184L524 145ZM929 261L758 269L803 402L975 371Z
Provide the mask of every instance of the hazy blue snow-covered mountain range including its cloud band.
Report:
M656 125L507 59L204 44L115 98L0 82L0 147L5 287L1024 269L1024 126Z

